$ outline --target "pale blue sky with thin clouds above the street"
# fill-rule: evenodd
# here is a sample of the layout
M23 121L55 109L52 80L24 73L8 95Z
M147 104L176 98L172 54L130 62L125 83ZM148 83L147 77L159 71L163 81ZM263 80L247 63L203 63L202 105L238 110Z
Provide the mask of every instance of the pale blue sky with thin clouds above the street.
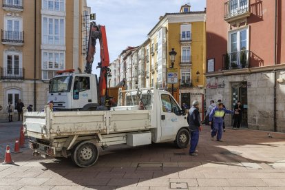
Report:
M91 13L96 13L96 24L105 25L110 63L127 46L138 46L147 40L147 34L165 13L179 12L190 3L191 11L202 11L206 0L87 0ZM98 43L92 73L98 74L100 61Z

